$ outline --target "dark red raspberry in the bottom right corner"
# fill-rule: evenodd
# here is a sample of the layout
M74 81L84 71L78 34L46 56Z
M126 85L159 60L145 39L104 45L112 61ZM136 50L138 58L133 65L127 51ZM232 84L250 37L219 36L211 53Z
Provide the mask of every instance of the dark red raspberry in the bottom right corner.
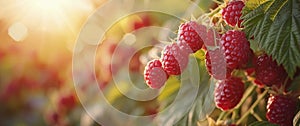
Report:
M266 117L280 126L292 126L297 100L286 95L271 95L267 103Z

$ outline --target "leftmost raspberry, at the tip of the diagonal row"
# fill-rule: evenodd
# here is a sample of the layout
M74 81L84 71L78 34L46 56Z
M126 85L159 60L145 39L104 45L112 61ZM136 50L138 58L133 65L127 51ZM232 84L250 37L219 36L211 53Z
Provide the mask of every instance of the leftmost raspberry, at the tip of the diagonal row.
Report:
M145 67L144 79L147 85L153 89L161 88L168 79L168 75L162 68L159 60L151 60Z

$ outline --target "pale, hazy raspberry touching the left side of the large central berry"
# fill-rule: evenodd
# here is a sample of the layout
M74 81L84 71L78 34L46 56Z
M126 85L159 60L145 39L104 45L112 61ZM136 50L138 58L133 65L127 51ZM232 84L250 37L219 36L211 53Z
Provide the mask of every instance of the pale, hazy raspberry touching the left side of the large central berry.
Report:
M208 73L218 80L230 77L232 70L226 67L225 55L220 49L208 50L205 54Z

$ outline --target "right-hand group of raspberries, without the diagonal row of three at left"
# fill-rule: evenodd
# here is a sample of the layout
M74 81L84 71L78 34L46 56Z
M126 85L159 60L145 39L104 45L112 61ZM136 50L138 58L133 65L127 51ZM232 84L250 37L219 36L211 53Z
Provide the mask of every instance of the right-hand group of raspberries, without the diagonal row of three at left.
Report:
M235 77L235 70L245 71L258 87L271 87L266 118L280 126L291 126L297 110L296 97L286 93L288 75L282 65L263 52L253 52L242 28L242 1L231 1L222 9L222 19L234 30L222 35L219 47L206 52L209 74L219 80L215 88L215 103L222 111L236 107L244 94L244 82ZM238 27L237 27L238 26ZM254 36L255 37L255 36ZM256 54L255 54L256 53ZM249 80L244 80L249 81Z

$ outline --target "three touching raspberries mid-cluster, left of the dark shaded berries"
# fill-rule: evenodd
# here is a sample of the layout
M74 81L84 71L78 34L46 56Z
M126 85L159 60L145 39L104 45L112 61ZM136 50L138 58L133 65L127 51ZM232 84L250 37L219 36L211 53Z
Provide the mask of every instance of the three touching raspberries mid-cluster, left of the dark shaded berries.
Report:
M216 106L224 111L234 108L244 94L244 82L232 75L249 62L252 50L243 31L229 30L222 35L220 47L207 50L206 67L220 83L215 89Z

